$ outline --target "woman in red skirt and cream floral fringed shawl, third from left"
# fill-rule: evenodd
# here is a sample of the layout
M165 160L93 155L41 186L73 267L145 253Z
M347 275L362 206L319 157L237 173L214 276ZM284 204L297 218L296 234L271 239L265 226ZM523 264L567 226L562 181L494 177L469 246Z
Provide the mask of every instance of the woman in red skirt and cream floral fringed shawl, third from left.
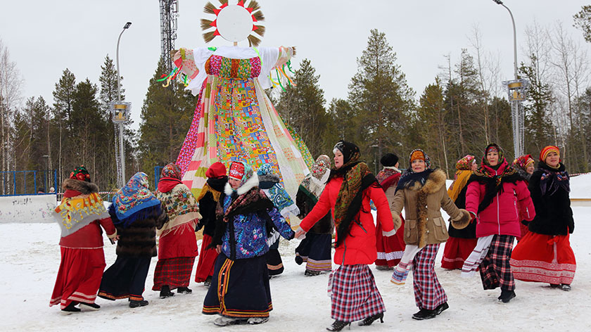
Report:
M201 215L193 193L180 179L179 167L169 164L163 168L158 181L155 196L162 202L168 222L157 231L160 236L158 263L152 290L160 290L163 286L170 290L188 287L193 262L198 255L195 226Z

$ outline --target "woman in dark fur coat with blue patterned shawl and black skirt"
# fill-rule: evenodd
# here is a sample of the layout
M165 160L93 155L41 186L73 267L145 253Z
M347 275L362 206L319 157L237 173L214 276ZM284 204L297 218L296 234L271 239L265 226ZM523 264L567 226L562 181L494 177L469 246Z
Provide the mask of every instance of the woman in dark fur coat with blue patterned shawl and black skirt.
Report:
M156 256L156 227L167 222L160 200L148 189L148 176L136 173L117 191L109 215L117 227L117 260L103 274L98 296L107 300L144 300L144 286Z

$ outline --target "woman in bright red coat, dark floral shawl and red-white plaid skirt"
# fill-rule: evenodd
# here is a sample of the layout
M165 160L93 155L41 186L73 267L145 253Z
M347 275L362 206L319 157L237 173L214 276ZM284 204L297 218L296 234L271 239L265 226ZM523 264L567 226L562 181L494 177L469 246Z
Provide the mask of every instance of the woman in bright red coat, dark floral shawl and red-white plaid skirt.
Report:
M369 264L376 260L376 227L369 200L378 208L379 222L387 236L395 234L388 200L369 167L359 162L355 144L338 141L331 170L318 203L300 223L296 236L302 236L330 210L336 227L334 262L340 265L329 277L331 316L335 319L329 331L341 331L351 321L363 320L370 325L383 322L386 308L376 287Z

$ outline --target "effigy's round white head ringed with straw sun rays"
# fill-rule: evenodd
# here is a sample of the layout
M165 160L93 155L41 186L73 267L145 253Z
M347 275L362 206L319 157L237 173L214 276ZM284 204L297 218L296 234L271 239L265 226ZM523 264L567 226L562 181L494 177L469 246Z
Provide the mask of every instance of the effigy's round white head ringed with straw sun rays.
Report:
M247 6L244 4L244 0L239 0L234 5L228 4L228 0L218 1L221 4L219 8L211 2L205 4L205 8L203 8L206 14L215 15L215 20L201 19L201 29L204 31L203 39L205 42L212 41L216 36L222 36L227 41L233 42L248 39L250 46L258 46L260 39L255 37L253 32L260 37L265 35L265 27L255 24L265 20L258 2L250 0Z

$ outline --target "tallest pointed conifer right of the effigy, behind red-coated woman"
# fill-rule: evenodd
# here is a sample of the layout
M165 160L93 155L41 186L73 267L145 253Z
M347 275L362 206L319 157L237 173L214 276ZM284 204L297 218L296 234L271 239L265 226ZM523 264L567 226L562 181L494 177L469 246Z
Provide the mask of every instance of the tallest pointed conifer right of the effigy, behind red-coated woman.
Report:
M357 58L357 74L349 84L348 101L360 117L359 132L364 140L357 143L367 160L374 160L372 165L377 155L405 145L413 96L386 34L371 30L367 48Z

